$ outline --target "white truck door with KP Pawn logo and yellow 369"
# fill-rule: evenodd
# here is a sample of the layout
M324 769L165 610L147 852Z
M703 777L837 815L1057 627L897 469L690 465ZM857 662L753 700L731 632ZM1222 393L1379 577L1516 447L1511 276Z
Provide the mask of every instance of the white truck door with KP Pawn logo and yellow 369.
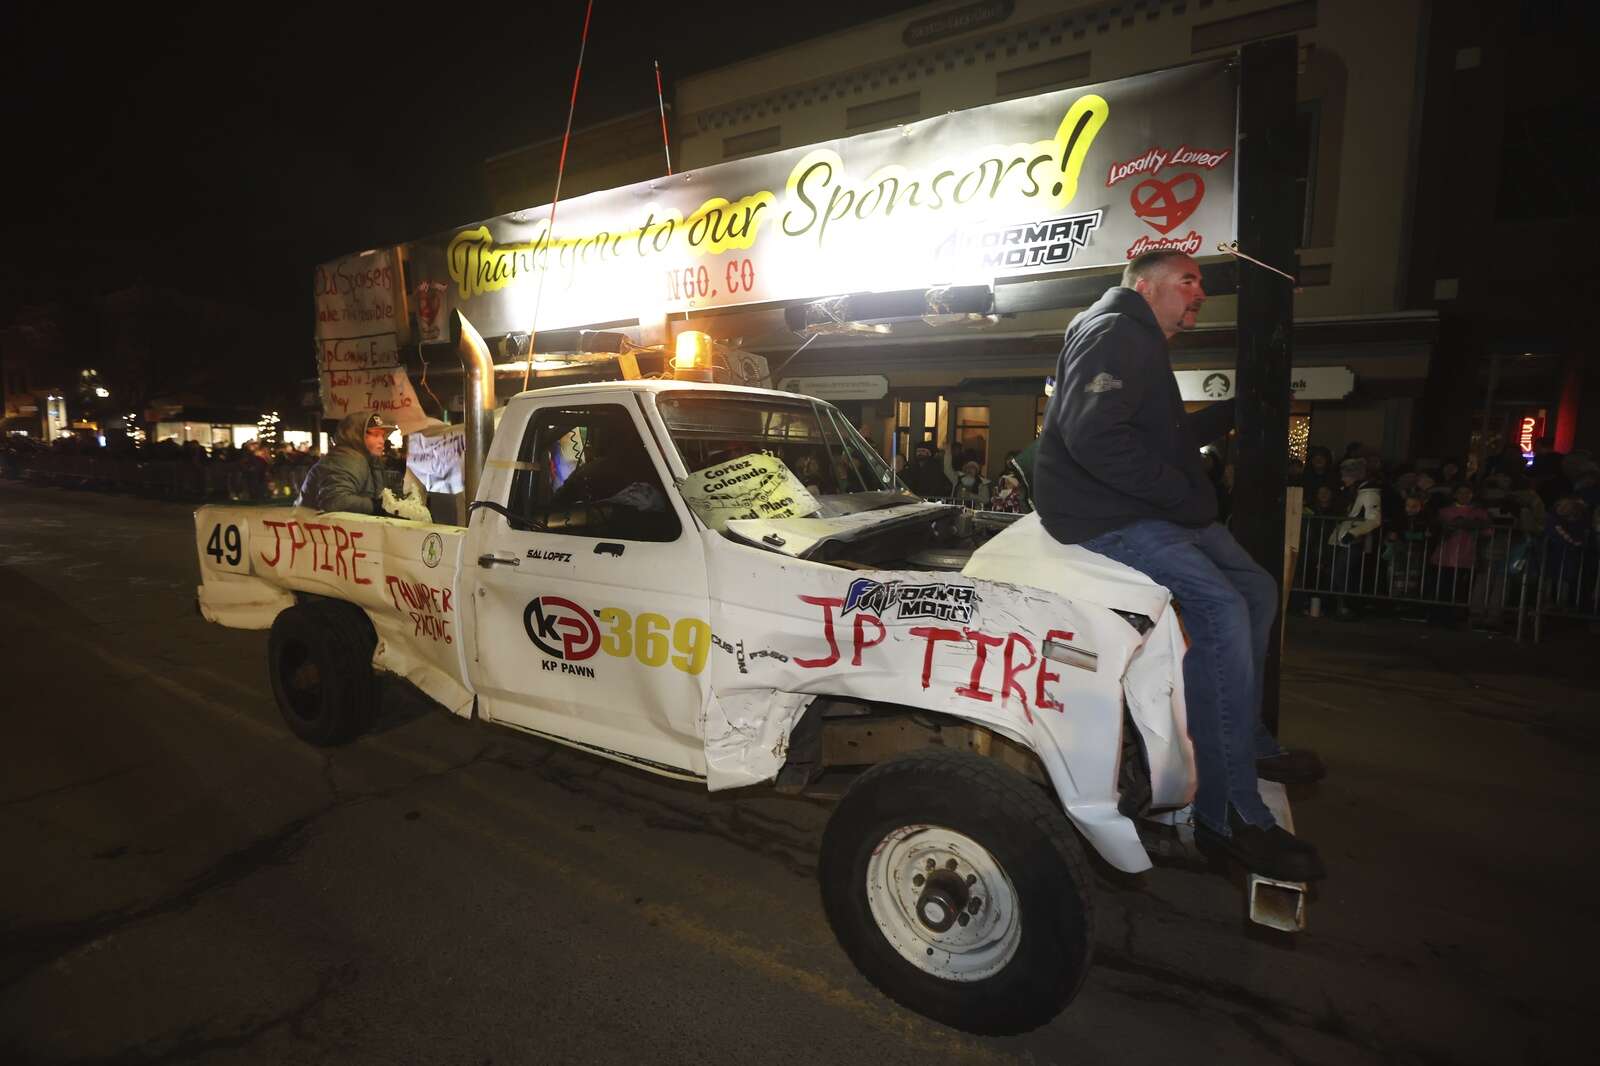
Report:
M478 711L704 775L706 555L635 397L501 423L469 522Z

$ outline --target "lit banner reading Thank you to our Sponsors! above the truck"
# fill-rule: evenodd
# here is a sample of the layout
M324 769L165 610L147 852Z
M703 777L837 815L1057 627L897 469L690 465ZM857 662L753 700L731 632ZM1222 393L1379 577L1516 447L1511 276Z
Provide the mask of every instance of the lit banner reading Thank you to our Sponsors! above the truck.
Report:
M1235 234L1234 131L1202 62L595 192L554 234L502 214L408 245L406 283L502 335L1203 256Z

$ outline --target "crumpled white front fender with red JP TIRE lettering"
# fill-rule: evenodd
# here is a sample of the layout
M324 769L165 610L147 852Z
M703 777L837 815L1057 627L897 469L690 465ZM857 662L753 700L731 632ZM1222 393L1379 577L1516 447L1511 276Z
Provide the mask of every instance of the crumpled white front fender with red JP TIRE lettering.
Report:
M710 787L771 779L778 741L811 696L925 707L1032 747L1096 850L1118 869L1149 868L1133 823L1115 812L1123 675L1141 645L1126 621L965 575L843 570L715 535L706 547L717 635ZM1046 639L1093 651L1096 669L1045 659Z

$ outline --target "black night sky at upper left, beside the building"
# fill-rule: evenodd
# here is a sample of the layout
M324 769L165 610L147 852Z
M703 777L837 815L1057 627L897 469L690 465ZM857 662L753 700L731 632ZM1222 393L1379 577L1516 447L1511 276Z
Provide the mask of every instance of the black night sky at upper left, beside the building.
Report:
M670 99L675 77L910 6L597 0L574 126L654 107L651 59ZM317 262L486 216L483 158L562 133L584 19L582 0L6 8L0 325L142 282L254 309L296 352Z

